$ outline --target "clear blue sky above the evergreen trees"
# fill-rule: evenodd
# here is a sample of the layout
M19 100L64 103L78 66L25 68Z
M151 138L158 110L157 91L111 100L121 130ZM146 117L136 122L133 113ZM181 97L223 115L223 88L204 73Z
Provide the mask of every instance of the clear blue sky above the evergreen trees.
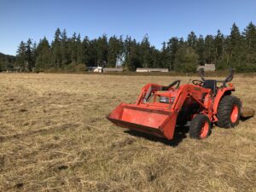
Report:
M57 27L82 38L106 33L130 35L138 41L148 34L160 49L171 37L230 33L234 22L243 30L256 24L255 0L0 0L0 52L15 55L20 41L51 41Z

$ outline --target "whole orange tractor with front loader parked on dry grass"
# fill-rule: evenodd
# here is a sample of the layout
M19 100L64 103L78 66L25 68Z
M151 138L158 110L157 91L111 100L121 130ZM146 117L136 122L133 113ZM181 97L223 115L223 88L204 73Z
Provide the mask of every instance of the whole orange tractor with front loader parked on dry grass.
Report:
M192 84L180 84L180 80L167 86L146 84L136 104L120 103L107 119L114 125L171 140L177 126L189 126L190 137L204 139L213 124L230 128L239 124L241 116L253 116L253 109L242 108L241 100L232 94L233 69L222 81L206 79L203 70L200 76Z

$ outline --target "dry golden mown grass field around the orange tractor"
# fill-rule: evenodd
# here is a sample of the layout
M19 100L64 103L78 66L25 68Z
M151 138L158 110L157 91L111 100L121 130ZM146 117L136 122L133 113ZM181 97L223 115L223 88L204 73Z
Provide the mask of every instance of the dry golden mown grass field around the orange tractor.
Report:
M0 191L255 192L255 117L235 129L214 126L202 141L177 130L172 142L105 119L119 102L135 102L144 84L175 79L0 74ZM256 109L256 78L233 82L243 106Z

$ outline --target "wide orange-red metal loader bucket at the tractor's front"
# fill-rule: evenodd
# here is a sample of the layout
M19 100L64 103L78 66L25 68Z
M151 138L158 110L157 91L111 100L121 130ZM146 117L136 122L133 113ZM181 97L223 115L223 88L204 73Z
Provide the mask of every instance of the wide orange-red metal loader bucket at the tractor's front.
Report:
M117 126L172 139L177 115L166 110L121 103L107 119Z

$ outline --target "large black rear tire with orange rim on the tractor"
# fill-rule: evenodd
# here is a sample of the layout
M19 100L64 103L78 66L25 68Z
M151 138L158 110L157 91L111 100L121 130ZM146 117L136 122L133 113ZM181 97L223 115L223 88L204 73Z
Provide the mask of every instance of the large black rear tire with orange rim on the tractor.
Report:
M237 108L237 117L232 120L234 109ZM241 115L241 101L236 96L223 96L218 103L217 118L218 126L222 128L235 127L239 124ZM234 120L236 119L236 120Z

